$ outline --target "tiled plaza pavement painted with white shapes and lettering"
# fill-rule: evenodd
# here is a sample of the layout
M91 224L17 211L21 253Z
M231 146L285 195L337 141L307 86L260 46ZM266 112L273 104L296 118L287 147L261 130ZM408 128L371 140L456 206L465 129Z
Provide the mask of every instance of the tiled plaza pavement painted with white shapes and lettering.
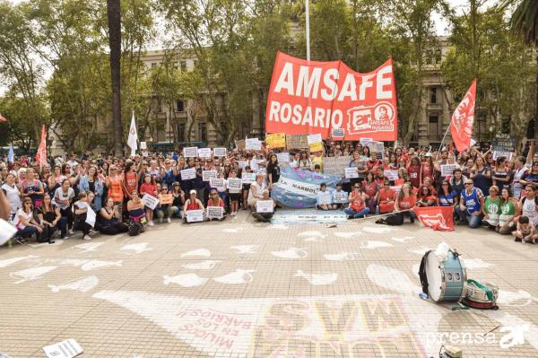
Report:
M499 310L419 298L422 254L442 241L469 278L499 285ZM438 357L442 343L464 357L538 357L537 257L461 226L327 228L246 212L2 248L0 352L44 357L74 338L83 357Z

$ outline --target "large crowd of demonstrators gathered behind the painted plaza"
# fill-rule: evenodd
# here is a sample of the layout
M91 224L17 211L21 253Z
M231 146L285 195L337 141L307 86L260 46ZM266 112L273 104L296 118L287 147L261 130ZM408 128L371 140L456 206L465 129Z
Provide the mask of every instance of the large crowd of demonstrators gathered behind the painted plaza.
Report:
M138 234L155 221L171 223L202 212L195 221L224 220L249 209L257 220L270 221L277 203L271 198L282 165L324 172L325 157L350 156L336 188L325 183L317 191L317 209L343 210L350 219L380 215L377 223L411 223L414 207L450 206L455 220L471 228L487 227L515 240L538 240L538 153L531 142L526 156L510 153L494 159L488 147L473 146L456 153L442 148L385 147L327 141L323 152L291 150L287 163L265 146L261 151L233 150L225 156L185 157L183 153L143 153L129 159L113 156L57 156L39 167L28 157L0 161L0 185L16 229L15 240L35 237L41 242L66 239L74 231L91 240L95 232ZM282 157L281 157L282 158ZM443 166L450 165L450 172ZM183 178L184 170L195 172ZM204 172L216 172L214 181ZM397 172L397 175L395 175ZM246 175L249 173L250 175ZM390 173L390 175L387 175ZM247 177L250 178L247 180ZM229 184L241 179L240 187ZM237 180L235 181L237 183ZM156 203L149 205L146 197ZM273 210L256 210L258 202L273 201ZM216 216L208 207L221 208ZM194 217L194 216L193 216Z

